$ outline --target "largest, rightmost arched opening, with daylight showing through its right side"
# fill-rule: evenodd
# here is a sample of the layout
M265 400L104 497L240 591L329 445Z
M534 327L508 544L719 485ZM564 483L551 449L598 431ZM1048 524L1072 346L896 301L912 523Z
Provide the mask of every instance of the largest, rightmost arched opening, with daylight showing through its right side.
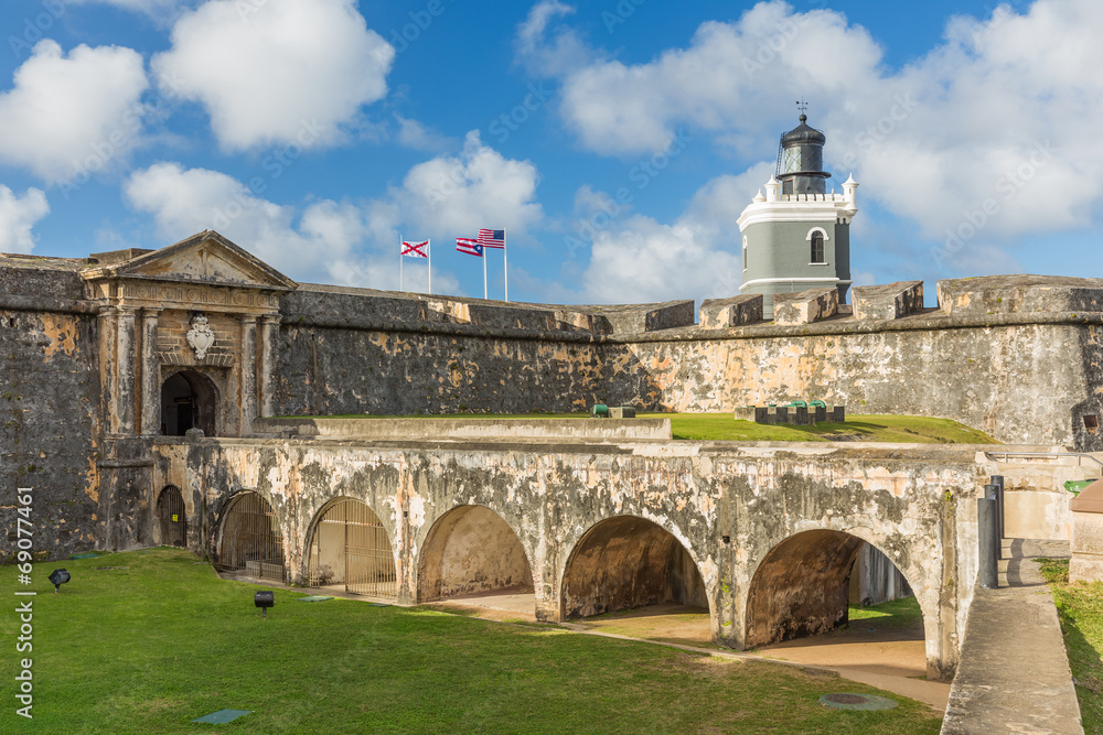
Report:
M863 605L863 590L889 596L893 585L895 601ZM743 644L774 658L898 677L906 684L928 673L923 613L910 592L892 562L858 537L803 531L775 545L756 570ZM891 691L886 682L879 685ZM934 694L945 695L949 685Z

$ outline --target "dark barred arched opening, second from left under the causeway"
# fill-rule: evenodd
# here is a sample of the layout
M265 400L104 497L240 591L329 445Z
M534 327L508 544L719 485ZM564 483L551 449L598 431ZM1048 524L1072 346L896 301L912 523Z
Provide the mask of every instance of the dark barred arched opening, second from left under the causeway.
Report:
M218 569L285 582L283 559L283 534L268 500L251 490L235 495L222 521Z

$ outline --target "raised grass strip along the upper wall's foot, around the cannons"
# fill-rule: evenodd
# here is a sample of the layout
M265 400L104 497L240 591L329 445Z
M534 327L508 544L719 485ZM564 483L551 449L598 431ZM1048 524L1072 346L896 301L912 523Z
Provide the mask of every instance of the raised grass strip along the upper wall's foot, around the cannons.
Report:
M308 417L282 417L303 419ZM586 413L450 413L383 417L341 414L331 419L587 419ZM640 413L641 419L670 419L674 439L742 442L903 442L919 444L998 444L984 432L949 419L898 415L852 415L846 423L814 426L770 426L736 421L731 413Z

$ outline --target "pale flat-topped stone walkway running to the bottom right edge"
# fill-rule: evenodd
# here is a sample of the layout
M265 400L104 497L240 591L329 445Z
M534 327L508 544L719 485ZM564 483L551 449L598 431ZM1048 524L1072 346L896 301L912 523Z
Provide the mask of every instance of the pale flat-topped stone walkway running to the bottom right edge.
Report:
M976 590L943 735L1083 735L1057 608L1032 561L1068 541L1005 539L999 588Z

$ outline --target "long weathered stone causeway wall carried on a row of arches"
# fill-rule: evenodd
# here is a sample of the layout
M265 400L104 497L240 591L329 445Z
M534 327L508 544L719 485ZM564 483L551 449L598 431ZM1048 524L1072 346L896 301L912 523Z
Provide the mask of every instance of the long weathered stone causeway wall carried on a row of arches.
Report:
M465 583L450 587L442 575L474 579L464 569L479 563L476 555L450 565L422 554L447 553L446 542L430 538L448 529L441 519L478 506L516 537L531 568L537 616L559 620L703 598L716 639L733 646L746 645L752 631L780 630L784 637L799 629L796 615L821 615L816 629L838 621L838 610L828 603L838 597L845 605L840 576L853 554L825 564L824 544L806 544L805 553L789 554L803 572L788 587L763 582L769 575L759 570L777 548L805 531L829 532L829 539L846 534L848 543L860 539L884 552L915 591L929 668L942 677L953 670L972 599L974 499L990 469L977 463L971 447L902 445L203 439L158 440L156 454L152 487L173 484L183 490L189 514L195 514L189 528L208 529L197 550L215 559L219 525L236 493L255 490L270 502L292 579L306 573L319 510L333 498L355 498L387 531L398 598L416 602L448 588L472 588ZM458 548L472 549L476 531L469 526ZM485 540L501 536L495 531ZM696 591L685 560L672 554L674 543L699 575ZM427 566L436 571L422 581ZM754 607L754 599L777 602L785 590L806 588L816 570L822 573L815 579L839 594L810 598L799 609L773 603ZM661 576L655 584L656 573L665 574L665 584ZM751 614L752 607L765 615Z

